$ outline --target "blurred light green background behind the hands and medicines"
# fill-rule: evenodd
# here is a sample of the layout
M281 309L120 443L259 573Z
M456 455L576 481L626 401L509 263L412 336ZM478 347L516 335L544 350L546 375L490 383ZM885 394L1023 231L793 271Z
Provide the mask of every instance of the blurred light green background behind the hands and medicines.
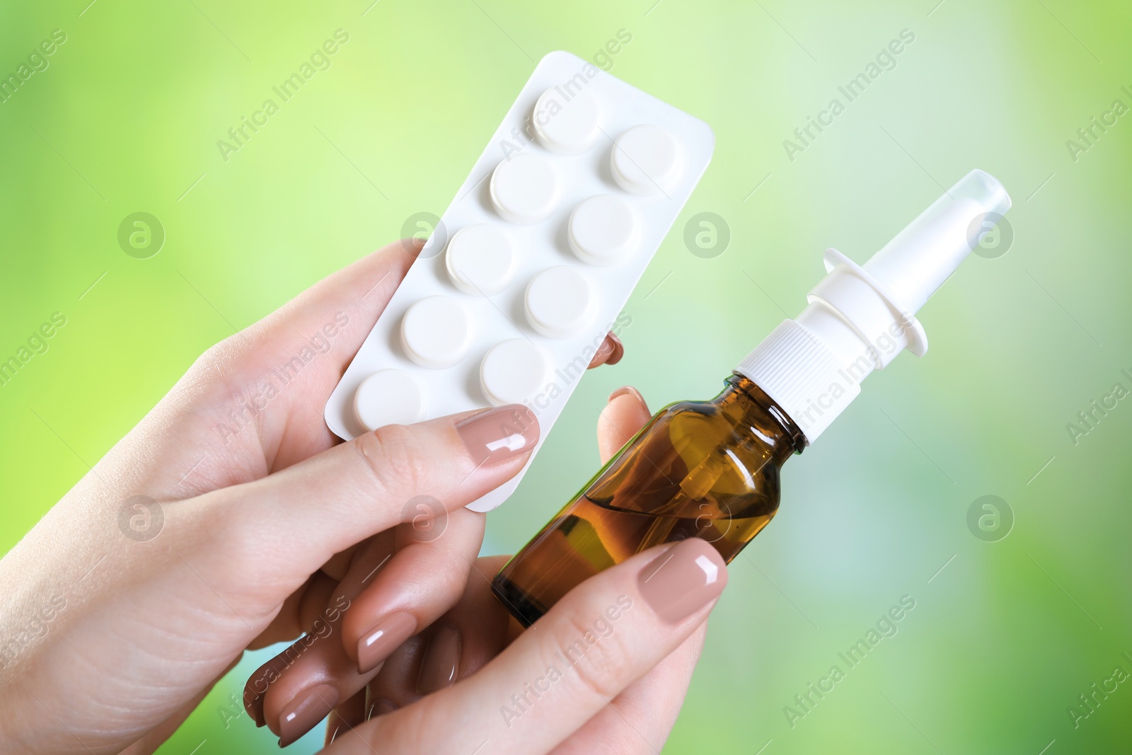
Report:
M0 549L208 345L443 213L541 55L626 29L612 74L709 122L715 156L626 307L624 361L581 384L484 552L513 552L595 470L610 391L714 395L801 309L823 249L863 261L981 168L1013 196L1012 246L920 312L925 359L871 377L788 463L664 752L1129 750L1129 685L1078 727L1067 709L1132 671L1132 400L1075 445L1066 429L1132 389L1132 115L1066 145L1132 106L1126 2L87 2L0 8L5 76L66 34L0 103L0 355L66 317L0 387ZM223 160L217 139L338 28L333 66ZM783 139L901 29L897 66L791 161ZM136 212L164 228L146 259L117 240ZM683 241L701 212L731 233L711 258ZM1005 538L968 526L986 495ZM899 633L791 727L783 707L902 595ZM275 752L223 712L263 658L162 752Z

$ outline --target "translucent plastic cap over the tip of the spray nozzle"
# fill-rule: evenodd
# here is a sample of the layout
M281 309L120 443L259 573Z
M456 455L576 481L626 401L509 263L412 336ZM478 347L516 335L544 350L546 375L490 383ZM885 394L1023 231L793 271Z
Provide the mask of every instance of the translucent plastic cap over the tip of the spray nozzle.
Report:
M978 246L985 223L997 223L1010 205L998 179L972 170L873 255L865 271L915 315Z

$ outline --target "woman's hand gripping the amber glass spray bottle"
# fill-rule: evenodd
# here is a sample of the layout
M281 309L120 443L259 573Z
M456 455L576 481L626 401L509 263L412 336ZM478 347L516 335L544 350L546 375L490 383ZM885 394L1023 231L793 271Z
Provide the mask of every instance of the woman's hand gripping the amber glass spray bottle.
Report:
M648 419L636 391L616 392L598 423L602 461ZM640 554L575 587L526 632L491 594L505 560L479 559L461 601L337 705L327 755L660 752L727 583L715 550L694 539ZM285 678L310 685L317 671L308 661ZM285 739L321 718L320 697L334 695L326 689L308 686L309 702L278 721Z

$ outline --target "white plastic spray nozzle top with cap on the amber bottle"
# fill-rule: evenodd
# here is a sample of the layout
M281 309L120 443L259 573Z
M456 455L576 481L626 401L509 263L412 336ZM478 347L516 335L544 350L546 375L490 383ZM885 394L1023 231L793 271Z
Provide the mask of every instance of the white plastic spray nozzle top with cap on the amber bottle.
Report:
M924 302L979 243L984 220L1010 209L989 173L974 170L859 266L825 251L829 274L809 306L786 320L736 371L753 380L813 443L860 393L860 381L907 349L927 351Z

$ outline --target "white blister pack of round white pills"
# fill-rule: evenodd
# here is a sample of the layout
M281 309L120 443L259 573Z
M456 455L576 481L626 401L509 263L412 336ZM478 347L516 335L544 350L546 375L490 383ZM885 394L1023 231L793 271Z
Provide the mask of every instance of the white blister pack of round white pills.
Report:
M327 426L349 440L520 403L544 439L714 143L593 63L546 55L342 376ZM495 508L521 478L469 507Z

